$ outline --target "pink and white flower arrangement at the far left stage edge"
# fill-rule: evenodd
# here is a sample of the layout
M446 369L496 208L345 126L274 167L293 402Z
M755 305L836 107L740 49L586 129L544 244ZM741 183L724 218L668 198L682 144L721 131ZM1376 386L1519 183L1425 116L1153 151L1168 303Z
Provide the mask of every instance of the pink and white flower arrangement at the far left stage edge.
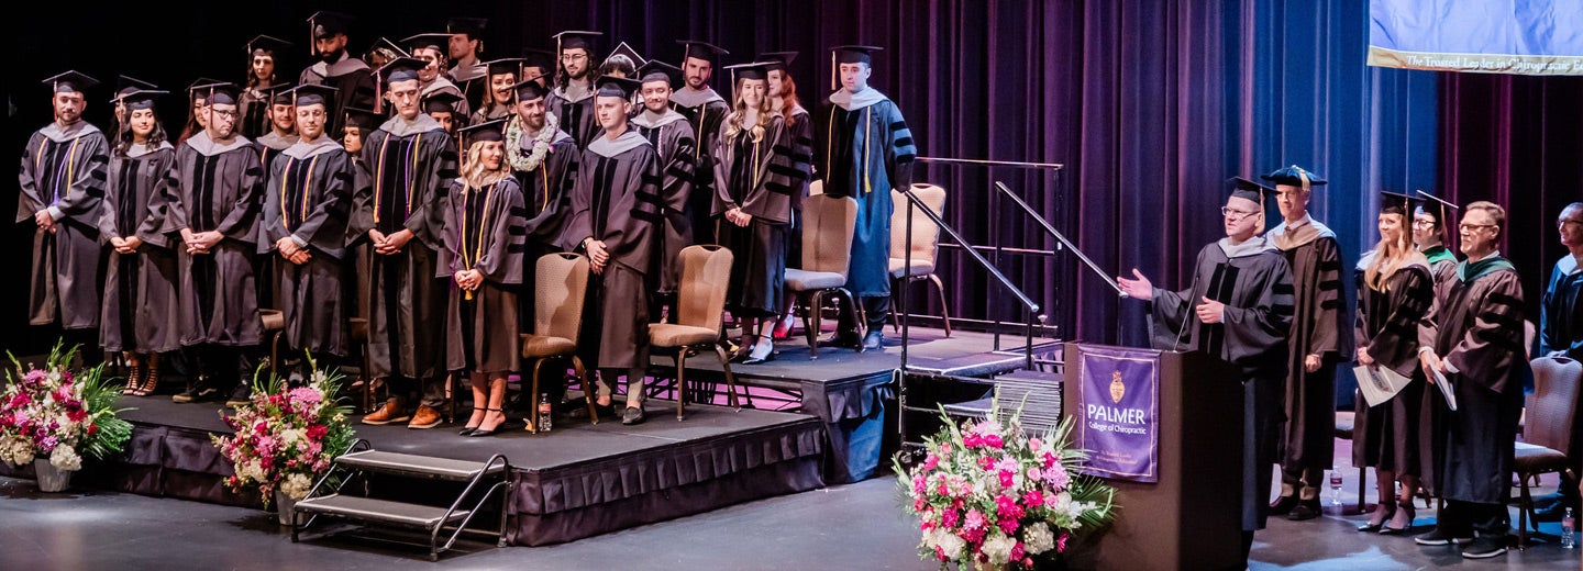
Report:
M116 418L120 389L109 386L104 365L73 370L78 348L57 342L44 369L22 369L6 351L16 369L6 372L0 392L0 460L25 465L47 457L57 470L74 471L84 456L103 459L125 449L131 424Z

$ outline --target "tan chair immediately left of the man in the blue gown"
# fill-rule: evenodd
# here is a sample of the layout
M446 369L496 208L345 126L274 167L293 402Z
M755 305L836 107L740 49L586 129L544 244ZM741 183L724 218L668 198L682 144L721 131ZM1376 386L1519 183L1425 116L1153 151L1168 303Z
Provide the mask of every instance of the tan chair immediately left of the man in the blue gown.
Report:
M858 202L848 196L810 195L803 201L803 267L787 267L787 291L796 294L807 334L809 359L818 359L818 332L826 294L837 294L864 323L863 305L847 289L852 264L852 231L858 225ZM861 348L860 348L861 351Z

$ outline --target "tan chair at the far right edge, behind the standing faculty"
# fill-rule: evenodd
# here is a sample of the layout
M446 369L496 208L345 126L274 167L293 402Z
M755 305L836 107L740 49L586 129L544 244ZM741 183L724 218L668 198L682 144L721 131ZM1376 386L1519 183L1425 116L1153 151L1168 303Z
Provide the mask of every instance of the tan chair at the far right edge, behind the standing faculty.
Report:
M1578 383L1583 383L1583 364L1567 357L1539 357L1532 361L1534 394L1528 395L1528 432L1517 443L1512 471L1518 479L1517 546L1528 547L1528 527L1539 531L1534 520L1534 497L1528 481L1547 473L1572 473L1574 429L1577 427Z

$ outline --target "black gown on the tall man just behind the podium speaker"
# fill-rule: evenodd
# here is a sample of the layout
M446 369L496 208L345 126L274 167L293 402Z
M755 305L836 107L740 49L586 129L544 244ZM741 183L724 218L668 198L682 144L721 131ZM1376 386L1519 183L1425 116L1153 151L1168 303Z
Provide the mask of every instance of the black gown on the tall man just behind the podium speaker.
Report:
M1292 478L1330 470L1334 463L1336 364L1352 361L1352 321L1346 316L1341 283L1346 266L1336 234L1308 217L1295 229L1282 223L1266 236L1292 266L1296 301L1281 438L1281 468ZM1303 369L1309 354L1320 357L1320 367L1312 373Z

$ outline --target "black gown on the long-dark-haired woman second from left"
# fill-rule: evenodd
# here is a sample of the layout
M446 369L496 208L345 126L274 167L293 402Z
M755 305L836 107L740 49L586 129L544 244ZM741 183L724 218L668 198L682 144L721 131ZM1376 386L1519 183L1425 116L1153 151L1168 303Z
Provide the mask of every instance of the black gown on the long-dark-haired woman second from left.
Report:
M169 142L131 146L109 160L109 187L100 209L100 237L136 237L136 253L109 248L100 345L104 351L165 353L182 346L176 312L176 250L163 233L165 176L176 160ZM176 242L180 245L180 240Z

